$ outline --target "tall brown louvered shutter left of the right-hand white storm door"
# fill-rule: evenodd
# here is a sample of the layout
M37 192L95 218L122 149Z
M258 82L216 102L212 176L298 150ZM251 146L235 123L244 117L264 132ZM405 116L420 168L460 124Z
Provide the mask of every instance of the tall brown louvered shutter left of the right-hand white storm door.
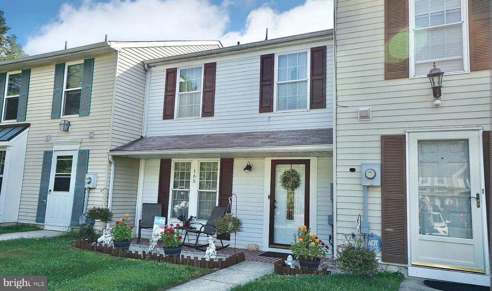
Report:
M405 135L381 135L383 261L407 262Z

